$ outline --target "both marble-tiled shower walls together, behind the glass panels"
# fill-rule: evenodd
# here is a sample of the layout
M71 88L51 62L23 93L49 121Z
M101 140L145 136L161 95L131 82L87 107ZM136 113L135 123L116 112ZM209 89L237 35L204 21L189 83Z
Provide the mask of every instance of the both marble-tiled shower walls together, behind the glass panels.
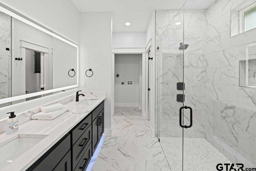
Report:
M196 125L185 135L205 137L231 162L255 167L256 88L239 87L239 60L256 59L256 29L230 37L230 11L242 2L218 0L205 11L184 12L184 44L189 44L184 51L184 105L195 111ZM183 32L164 25L171 12L156 13L157 110L160 136L176 137L182 135L174 125L181 106L176 102L176 83L182 82L183 57L174 40Z

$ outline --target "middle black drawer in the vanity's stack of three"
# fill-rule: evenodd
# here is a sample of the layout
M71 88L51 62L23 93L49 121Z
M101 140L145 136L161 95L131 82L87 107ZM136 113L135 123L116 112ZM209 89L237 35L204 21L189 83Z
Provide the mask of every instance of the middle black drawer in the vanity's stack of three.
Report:
M88 146L91 145L91 141L92 141L92 132L91 132L91 125L90 125L72 147L73 170L77 166L78 162L82 158Z

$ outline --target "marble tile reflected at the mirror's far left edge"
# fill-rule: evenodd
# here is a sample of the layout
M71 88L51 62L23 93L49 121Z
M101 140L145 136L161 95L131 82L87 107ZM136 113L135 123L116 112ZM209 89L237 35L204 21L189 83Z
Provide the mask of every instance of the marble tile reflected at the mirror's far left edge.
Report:
M0 99L11 94L11 17L0 12ZM8 103L0 104L0 108Z

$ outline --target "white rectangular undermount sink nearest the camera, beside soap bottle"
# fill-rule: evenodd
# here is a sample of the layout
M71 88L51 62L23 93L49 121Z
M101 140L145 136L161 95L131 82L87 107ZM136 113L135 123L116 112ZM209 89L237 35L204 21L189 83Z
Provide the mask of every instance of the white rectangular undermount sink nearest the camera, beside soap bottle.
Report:
M48 135L17 134L0 143L0 170L12 163Z

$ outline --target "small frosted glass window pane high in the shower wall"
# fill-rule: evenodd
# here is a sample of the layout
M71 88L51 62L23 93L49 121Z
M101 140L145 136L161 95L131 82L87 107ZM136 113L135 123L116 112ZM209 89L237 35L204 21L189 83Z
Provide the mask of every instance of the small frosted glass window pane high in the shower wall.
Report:
M244 12L244 31L256 28L256 6Z

